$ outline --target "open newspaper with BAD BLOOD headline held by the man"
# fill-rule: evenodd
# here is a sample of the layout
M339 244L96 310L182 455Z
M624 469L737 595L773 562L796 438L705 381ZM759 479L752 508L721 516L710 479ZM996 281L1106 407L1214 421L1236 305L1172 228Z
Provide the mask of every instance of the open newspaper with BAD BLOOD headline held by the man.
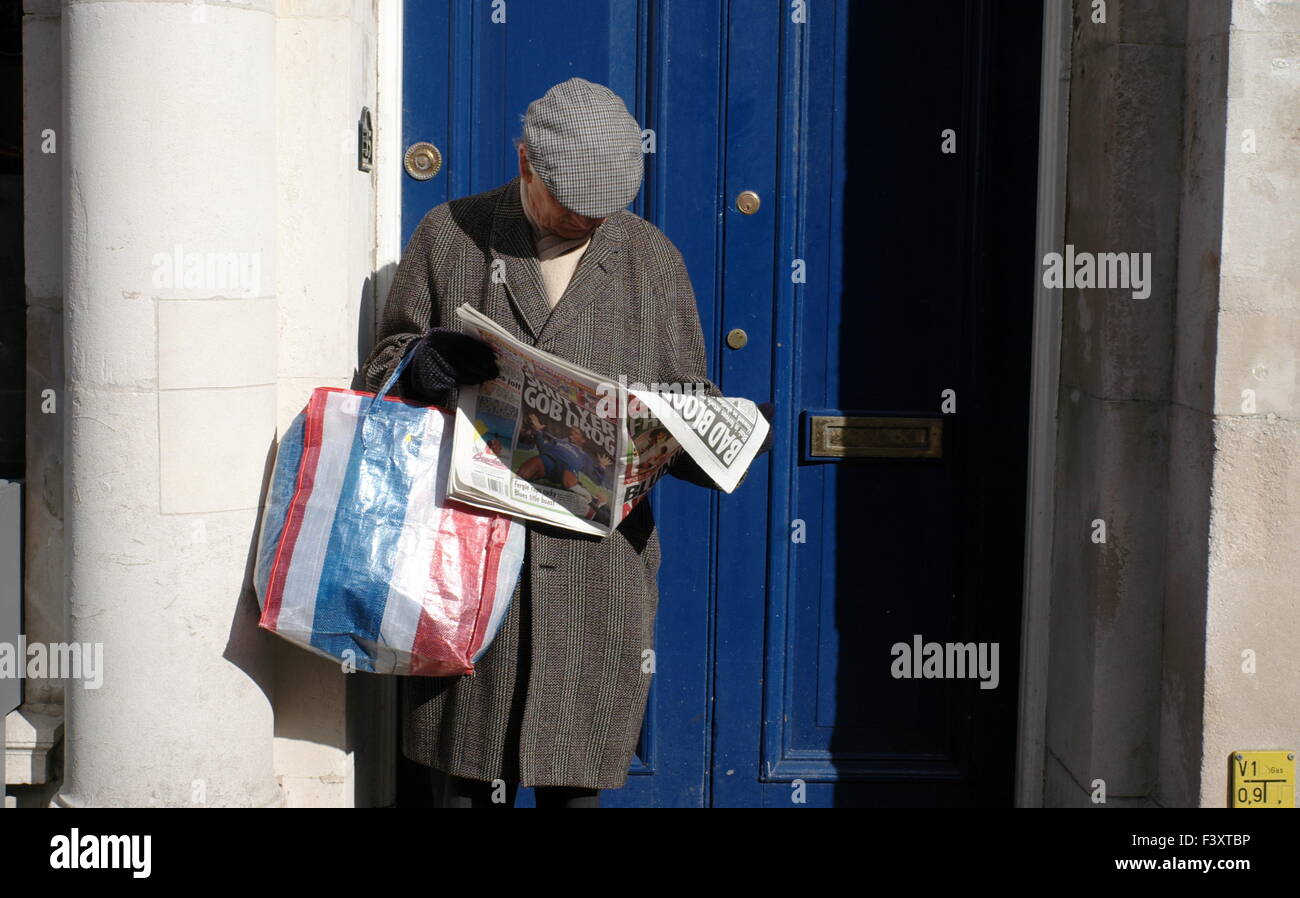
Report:
M696 383L612 383L469 305L456 316L500 369L458 392L447 495L459 502L604 537L679 452L731 493L767 435L749 399Z

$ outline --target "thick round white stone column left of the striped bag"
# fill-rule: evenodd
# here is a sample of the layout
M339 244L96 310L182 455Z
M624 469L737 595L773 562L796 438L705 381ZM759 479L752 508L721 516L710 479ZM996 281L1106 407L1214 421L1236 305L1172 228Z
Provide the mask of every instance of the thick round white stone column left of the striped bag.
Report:
M268 806L273 0L64 0L66 639L52 804Z

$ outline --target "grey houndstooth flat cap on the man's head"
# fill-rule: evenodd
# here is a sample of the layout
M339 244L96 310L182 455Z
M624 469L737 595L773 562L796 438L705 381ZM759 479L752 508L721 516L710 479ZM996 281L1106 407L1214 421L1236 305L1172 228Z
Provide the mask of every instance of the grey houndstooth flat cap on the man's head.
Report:
M603 84L569 78L533 100L524 143L551 196L580 216L606 218L641 190L641 126Z

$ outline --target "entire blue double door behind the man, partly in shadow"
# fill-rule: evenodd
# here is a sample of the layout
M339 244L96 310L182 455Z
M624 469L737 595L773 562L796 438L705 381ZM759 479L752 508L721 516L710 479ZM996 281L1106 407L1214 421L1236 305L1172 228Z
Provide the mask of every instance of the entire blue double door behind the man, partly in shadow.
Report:
M517 174L551 84L604 83L653 131L632 211L686 260L711 377L779 409L734 494L655 487L656 672L604 804L1010 802L1037 42L975 0L406 0L404 142L445 164L404 238ZM810 454L832 415L941 420L941 455ZM997 642L1000 685L896 678L915 634Z

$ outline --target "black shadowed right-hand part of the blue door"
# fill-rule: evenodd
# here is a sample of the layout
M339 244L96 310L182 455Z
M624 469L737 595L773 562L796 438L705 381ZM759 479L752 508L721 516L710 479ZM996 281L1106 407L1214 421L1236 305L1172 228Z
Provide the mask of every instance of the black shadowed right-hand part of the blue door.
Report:
M939 415L942 459L827 473L833 803L1010 806L1041 5L854 3L849 30L840 364L823 395L846 415ZM997 643L996 689L894 678L892 647L918 634Z

